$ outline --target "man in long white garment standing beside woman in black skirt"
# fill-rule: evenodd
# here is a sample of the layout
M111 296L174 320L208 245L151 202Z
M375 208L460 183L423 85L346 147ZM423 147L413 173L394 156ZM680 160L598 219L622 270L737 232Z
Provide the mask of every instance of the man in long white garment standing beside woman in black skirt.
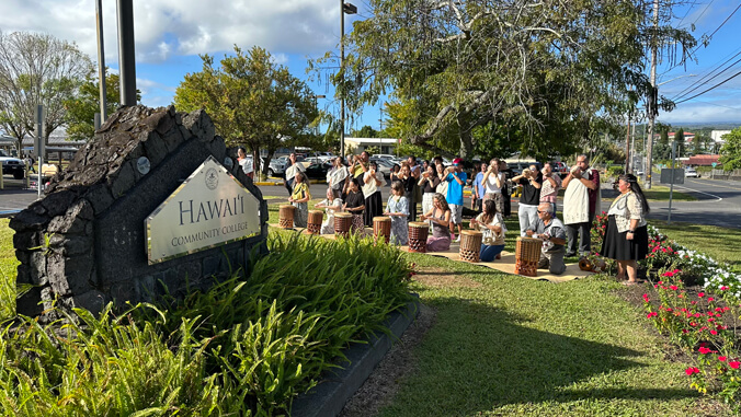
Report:
M586 155L577 157L577 165L562 183L563 223L569 235L566 256L586 255L592 248L590 229L600 211L600 173L590 167ZM579 251L577 252L577 238Z

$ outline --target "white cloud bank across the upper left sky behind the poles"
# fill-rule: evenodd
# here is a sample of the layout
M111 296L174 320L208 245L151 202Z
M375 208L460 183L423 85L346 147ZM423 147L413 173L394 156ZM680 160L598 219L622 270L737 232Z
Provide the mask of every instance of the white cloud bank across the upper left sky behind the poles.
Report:
M76 42L96 56L95 7L90 0L2 0L0 28L34 31ZM106 61L117 61L116 2L103 1ZM339 7L330 0L150 0L134 2L137 59L229 51L236 44L271 54L320 54L337 45ZM347 24L347 28L350 25Z

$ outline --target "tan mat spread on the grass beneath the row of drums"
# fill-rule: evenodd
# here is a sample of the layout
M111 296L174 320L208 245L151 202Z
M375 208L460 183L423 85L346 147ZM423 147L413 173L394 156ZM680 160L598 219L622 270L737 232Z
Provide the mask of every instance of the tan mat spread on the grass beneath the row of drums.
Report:
M270 224L271 227L277 228L277 224ZM290 230L290 229L288 229ZM293 229L298 232L303 232L304 229ZM368 236L373 236L373 228L365 228L365 233ZM322 238L326 239L334 239L334 234L321 234ZM451 260L457 260L457 262L465 262L460 260L460 255L458 255L458 251L460 248L460 243L457 242L452 242L451 243L451 248L445 251L445 252L428 252L426 254L420 254L420 255L429 255L429 256L442 256L446 257ZM400 251L403 252L409 252L408 246L399 246ZM589 277L593 273L589 273L585 270L579 269L579 263L573 263L573 264L566 264L566 270L561 275L552 275L548 271L548 269L538 269L538 275L536 277L528 277L525 275L520 275L514 273L514 252L502 252L502 258L501 259L495 259L494 262L480 262L480 263L471 263L471 265L479 265L481 267L486 268L491 268L499 270L501 273L505 274L512 274L512 275L517 275L523 278L529 278L529 279L536 279L540 281L550 281L550 282L566 282L566 281L571 281L574 279L583 278L583 277Z

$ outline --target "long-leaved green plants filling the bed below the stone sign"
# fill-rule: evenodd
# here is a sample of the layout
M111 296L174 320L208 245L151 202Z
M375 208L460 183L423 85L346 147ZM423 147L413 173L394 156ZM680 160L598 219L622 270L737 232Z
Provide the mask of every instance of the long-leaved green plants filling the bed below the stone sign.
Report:
M7 323L0 408L16 416L274 415L409 300L387 245L271 234L271 254L181 302L49 326ZM20 324L19 324L20 323Z

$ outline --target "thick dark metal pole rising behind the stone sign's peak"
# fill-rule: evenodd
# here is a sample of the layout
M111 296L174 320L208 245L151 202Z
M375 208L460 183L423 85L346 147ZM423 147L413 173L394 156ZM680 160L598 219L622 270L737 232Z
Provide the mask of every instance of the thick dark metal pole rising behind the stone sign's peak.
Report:
M134 55L133 0L118 0L118 66L121 67L121 105L136 105L136 57Z

